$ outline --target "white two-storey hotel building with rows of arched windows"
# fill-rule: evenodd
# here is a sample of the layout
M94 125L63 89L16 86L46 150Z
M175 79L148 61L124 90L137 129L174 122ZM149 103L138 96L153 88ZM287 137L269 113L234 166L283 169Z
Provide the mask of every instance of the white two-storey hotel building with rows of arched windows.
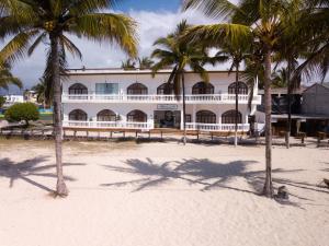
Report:
M170 70L152 77L149 70L76 69L63 81L65 128L183 129L183 101L166 84ZM235 73L209 71L209 83L198 74L185 73L186 130L234 131ZM250 89L239 83L241 132L249 130L248 116L261 103L257 86L251 110Z

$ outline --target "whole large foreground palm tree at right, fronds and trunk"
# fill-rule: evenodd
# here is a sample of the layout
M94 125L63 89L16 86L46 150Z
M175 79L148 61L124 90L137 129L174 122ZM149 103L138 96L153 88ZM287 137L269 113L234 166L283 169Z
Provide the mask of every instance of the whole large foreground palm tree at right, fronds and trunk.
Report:
M190 31L192 39L212 39L220 44L223 39L230 38L232 42L252 36L253 40L261 46L264 57L264 101L265 101L265 184L263 195L273 197L272 185L272 130L271 130L271 59L274 46L283 33L282 17L285 12L283 0L242 0L238 4L222 0L185 0L183 9L197 8L209 16L230 17L230 23L201 25Z

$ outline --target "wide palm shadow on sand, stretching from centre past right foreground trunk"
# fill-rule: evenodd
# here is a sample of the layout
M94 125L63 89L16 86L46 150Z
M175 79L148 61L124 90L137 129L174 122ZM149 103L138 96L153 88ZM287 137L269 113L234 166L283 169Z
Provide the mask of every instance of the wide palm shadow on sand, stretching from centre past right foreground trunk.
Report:
M250 171L248 166L252 166L257 162L254 161L235 161L228 163L217 163L207 159L189 159L181 162L164 162L162 164L155 163L151 159L146 161L132 159L124 162L125 167L104 165L109 171L128 173L141 176L139 179L101 184L103 187L121 187L126 185L133 185L134 191L143 189L149 189L170 183L174 179L184 180L190 185L200 185L202 191L207 191L214 188L224 188L235 191L242 191L252 195L260 195L264 185L264 171ZM272 173L275 176L280 174L303 172L303 169L282 169L275 168ZM276 175L277 174L277 175ZM237 186L231 180L242 178L247 181L248 186ZM275 187L286 185L308 191L317 191L329 194L316 185L308 183L300 183L285 178L273 178ZM308 200L308 198L290 194L292 197L296 197L300 200ZM297 203L284 202L284 204L296 206Z

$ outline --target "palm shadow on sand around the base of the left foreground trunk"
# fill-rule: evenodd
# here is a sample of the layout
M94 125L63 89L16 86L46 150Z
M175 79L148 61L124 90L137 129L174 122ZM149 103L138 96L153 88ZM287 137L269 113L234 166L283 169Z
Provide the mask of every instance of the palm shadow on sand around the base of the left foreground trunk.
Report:
M30 185L33 185L43 190L54 192L49 187L39 184L33 180L31 177L41 176L41 177L50 177L56 178L56 174L49 173L49 171L54 169L56 165L42 165L47 161L47 156L39 156L31 160L25 160L23 162L15 163L10 159L1 159L0 160L0 177L9 178L9 187L12 188L14 186L15 180L21 179L26 181ZM64 166L76 166L76 165L84 165L80 163L66 163ZM70 176L65 176L66 180L75 181L76 179Z

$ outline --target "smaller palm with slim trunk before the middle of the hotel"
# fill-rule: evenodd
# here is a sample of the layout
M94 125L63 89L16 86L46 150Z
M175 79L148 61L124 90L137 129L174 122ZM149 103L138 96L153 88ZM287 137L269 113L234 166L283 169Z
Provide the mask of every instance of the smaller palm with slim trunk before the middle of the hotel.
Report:
M203 63L207 59L205 49L202 46L193 46L184 42L180 42L181 36L189 27L190 25L186 21L182 21L178 24L174 33L156 40L155 46L161 46L162 49L157 48L151 55L152 58L159 59L159 61L152 67L154 74L158 70L166 69L171 66L173 68L168 79L168 83L173 84L175 95L180 95L180 89L182 89L184 144L186 144L185 69L190 67L192 71L197 72L204 81L208 82L208 74L203 68Z

